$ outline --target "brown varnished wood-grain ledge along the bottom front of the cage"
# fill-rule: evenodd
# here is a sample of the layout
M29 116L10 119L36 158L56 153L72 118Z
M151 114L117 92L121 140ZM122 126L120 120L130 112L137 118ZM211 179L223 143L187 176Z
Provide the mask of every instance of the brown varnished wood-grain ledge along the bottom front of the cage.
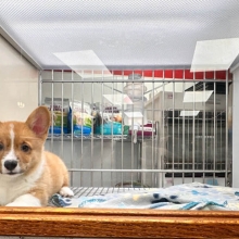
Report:
M239 212L0 207L0 236L239 238Z

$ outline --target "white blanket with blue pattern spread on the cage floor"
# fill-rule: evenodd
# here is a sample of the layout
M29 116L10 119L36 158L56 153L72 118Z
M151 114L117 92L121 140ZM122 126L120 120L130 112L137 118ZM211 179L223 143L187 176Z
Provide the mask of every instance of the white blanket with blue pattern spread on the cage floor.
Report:
M54 194L54 206L154 210L231 210L239 211L239 189L200 183L144 191L109 193L80 198Z

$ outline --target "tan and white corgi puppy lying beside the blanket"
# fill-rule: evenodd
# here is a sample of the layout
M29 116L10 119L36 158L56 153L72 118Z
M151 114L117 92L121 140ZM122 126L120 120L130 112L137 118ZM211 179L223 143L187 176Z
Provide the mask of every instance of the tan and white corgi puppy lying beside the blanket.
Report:
M61 159L43 150L51 117L37 108L24 122L0 122L0 205L46 206L59 192L73 197Z

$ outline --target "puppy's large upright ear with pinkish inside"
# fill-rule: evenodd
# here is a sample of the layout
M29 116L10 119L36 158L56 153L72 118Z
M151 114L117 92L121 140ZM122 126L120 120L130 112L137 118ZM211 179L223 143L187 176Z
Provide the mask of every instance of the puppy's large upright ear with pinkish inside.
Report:
M38 136L47 136L50 127L50 112L46 106L37 108L26 120L27 126Z

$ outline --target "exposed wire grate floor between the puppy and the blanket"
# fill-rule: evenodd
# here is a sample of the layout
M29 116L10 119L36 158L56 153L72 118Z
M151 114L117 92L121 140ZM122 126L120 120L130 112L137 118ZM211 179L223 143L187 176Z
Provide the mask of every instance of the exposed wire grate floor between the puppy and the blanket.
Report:
M87 187L72 187L74 191L74 198L80 197L90 197L90 196L105 196L108 193L124 193L124 192L134 192L134 191L146 191L148 188L87 188Z

